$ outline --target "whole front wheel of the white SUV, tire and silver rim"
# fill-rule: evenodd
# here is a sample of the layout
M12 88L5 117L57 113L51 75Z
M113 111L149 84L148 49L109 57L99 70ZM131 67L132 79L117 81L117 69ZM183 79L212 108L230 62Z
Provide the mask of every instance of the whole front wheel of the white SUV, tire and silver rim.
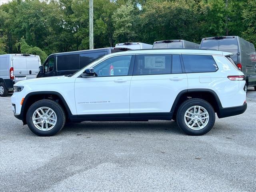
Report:
M44 99L30 106L26 114L26 121L34 134L53 136L64 127L66 116L60 104Z

